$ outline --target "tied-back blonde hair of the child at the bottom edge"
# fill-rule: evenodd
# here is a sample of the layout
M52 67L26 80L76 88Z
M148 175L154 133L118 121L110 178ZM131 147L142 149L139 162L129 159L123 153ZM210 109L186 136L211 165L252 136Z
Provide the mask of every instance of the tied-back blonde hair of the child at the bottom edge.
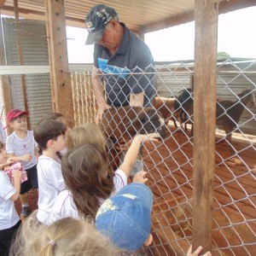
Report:
M111 256L120 255L107 237L85 220L61 218L38 224L36 212L20 225L10 256Z

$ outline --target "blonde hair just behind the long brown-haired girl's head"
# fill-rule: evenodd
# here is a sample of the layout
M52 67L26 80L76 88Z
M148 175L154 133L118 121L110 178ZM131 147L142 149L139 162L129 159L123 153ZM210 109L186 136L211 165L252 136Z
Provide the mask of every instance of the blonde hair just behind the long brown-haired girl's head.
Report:
M67 138L67 149L87 143L96 143L106 151L106 139L102 130L92 123L79 125L70 131Z

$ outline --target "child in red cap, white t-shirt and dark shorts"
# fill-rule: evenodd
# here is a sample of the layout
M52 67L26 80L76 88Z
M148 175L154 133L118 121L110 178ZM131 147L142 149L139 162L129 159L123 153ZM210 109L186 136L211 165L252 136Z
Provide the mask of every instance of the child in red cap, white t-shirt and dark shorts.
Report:
M27 180L21 183L20 188L21 218L26 218L29 214L26 193L32 188L38 189L36 142L33 132L27 130L26 115L28 114L28 111L20 109L11 109L7 114L8 124L14 131L6 139L6 152L9 158L21 162L27 174Z

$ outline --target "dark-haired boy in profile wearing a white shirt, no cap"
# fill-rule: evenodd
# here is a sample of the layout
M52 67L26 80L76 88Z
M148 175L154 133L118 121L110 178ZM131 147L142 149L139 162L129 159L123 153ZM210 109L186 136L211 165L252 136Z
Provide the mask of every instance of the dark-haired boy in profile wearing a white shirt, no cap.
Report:
M55 198L65 189L61 164L56 153L66 147L65 126L53 119L43 119L34 128L34 137L43 154L38 158L38 220L49 224Z

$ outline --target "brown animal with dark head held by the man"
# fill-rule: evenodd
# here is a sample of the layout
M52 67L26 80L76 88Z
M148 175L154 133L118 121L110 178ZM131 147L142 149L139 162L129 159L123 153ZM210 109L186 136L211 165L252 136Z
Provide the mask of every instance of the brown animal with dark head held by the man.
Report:
M109 108L104 112L99 125L107 137L112 167L118 166L119 152L125 150L127 143L138 133L159 132L160 139L166 137L166 125L160 112L154 108L120 107ZM142 148L140 150L142 154Z

